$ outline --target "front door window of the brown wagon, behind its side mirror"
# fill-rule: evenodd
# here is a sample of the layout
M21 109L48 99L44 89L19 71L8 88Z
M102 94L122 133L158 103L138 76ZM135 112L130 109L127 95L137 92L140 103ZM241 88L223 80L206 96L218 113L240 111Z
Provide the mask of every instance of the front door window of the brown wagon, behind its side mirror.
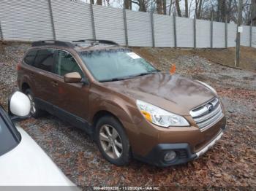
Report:
M65 74L69 72L78 72L81 77L84 77L83 71L78 66L78 63L75 61L75 58L68 52L64 52L61 50L58 50L57 56L56 56L56 74L63 77Z

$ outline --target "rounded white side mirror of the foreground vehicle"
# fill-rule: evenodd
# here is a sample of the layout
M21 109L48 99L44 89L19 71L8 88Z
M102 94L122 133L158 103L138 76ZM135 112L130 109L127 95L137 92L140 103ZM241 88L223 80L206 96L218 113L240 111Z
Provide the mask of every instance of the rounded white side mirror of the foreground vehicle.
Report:
M11 119L29 117L31 102L29 97L20 91L16 91L10 95L8 101L9 115Z

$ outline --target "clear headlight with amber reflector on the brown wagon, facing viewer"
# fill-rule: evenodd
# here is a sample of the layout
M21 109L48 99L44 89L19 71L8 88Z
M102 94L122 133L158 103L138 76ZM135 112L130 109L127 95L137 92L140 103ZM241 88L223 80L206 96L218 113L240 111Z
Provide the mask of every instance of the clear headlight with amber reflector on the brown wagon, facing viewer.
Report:
M137 100L137 106L149 122L167 128L170 126L189 126L189 122L178 114L173 114L157 106Z

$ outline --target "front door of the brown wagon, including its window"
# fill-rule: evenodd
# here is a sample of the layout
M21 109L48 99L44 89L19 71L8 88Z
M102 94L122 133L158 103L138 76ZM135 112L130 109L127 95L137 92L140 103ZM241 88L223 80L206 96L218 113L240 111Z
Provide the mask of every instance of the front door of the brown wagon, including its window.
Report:
M86 79L75 57L70 52L57 50L55 73L58 75L56 81L58 83L59 99L56 104L58 108L56 109L59 110L61 118L75 120L73 122L77 123L77 126L83 126L83 123L88 120L89 84L64 82L64 75L75 71L83 79Z

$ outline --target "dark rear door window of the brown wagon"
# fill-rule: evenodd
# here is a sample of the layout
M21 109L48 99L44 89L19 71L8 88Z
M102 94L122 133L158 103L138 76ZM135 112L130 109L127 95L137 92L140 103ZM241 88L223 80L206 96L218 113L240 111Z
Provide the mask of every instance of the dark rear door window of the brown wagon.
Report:
M34 66L52 72L54 51L52 49L38 50Z

